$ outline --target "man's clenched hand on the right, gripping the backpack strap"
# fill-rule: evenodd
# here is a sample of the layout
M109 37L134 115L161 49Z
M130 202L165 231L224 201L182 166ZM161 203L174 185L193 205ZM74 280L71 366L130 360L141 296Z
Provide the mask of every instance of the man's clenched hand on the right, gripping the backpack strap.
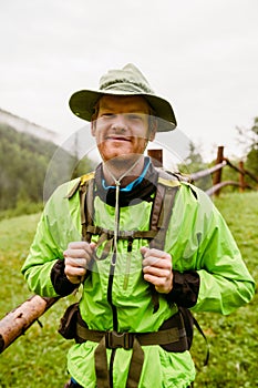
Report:
M161 294L168 294L173 288L172 256L164 252L143 246L144 279L152 283Z

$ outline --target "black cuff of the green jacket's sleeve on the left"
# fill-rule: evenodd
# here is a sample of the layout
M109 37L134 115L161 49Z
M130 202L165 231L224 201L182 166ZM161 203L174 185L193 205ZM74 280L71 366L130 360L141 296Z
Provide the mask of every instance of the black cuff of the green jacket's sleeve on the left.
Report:
M60 296L70 295L79 285L71 283L64 274L64 261L59 259L51 270L51 282Z

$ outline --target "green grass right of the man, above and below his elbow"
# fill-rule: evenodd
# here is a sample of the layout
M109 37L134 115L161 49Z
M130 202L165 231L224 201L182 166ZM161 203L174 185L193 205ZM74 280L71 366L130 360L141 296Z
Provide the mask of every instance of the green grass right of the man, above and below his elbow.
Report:
M214 202L230 227L257 283L258 193L221 194ZM202 336L196 334L193 356L199 370L195 387L258 387L257 302L256 293L250 304L230 316L208 313L197 316L210 345L210 359L207 367L202 367L206 350Z

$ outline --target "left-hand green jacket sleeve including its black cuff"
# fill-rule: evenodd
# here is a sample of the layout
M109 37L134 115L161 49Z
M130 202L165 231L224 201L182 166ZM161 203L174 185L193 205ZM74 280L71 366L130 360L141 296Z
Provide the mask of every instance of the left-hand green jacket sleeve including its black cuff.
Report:
M44 297L64 296L74 289L61 270L63 251L70 242L81 239L79 197L75 194L69 200L70 188L60 186L47 203L21 269L29 288Z

